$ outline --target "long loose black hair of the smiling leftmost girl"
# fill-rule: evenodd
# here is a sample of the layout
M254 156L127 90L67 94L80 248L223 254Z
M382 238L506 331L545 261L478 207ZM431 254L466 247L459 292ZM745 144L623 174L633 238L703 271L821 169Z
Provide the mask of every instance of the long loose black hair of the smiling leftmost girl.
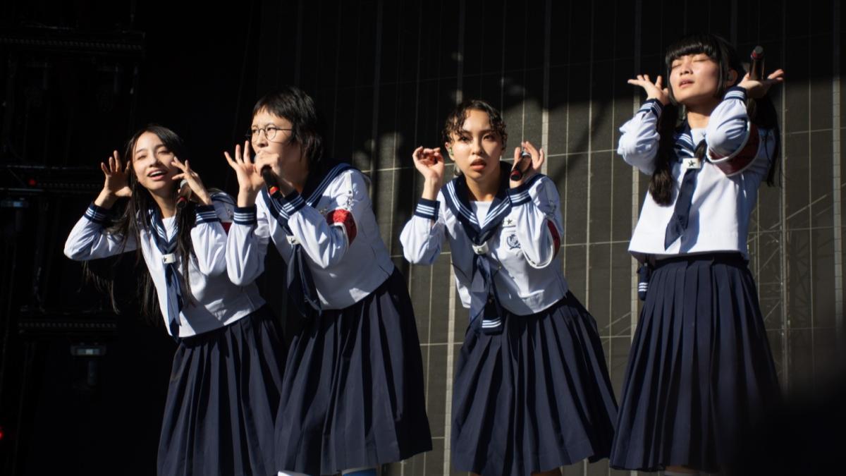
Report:
M146 125L129 138L126 143L124 152L124 160L129 163L132 162L135 155L135 144L138 142L140 136L147 132L155 134L168 148L173 155L184 162L188 156L184 146L184 142L173 130L163 127L161 125ZM120 239L120 249L126 249L129 239L132 238L136 243L140 243L140 230L145 230L147 233L156 233L150 221L150 210L158 207L157 203L143 185L138 182L138 177L135 175L135 168L129 166L129 188L132 190L132 196L125 202L116 206L113 215L118 218L113 221L106 229L106 232L118 236ZM175 189L174 184L174 189ZM174 190L174 194L176 191ZM122 210L120 208L123 208ZM195 204L188 202L183 208L177 208L176 221L179 224L179 235L177 236L177 254L181 259L182 275L179 277L179 284L183 292L183 299L186 305L194 303L191 294L191 285L188 275L189 263L191 259L196 259L194 253L194 246L191 242L191 229L195 224ZM139 245L135 251L135 265L139 268L141 278L138 280L138 296L141 300L142 314L152 324L161 324L162 319L159 318L160 308L157 303L156 287L153 285L149 269L146 266L138 266L143 260L141 254L141 246ZM112 270L113 271L113 270ZM94 284L101 290L107 291L112 301L112 307L115 313L118 313L117 304L114 300L114 276L98 275L91 271L90 267L85 267L86 278L94 281Z

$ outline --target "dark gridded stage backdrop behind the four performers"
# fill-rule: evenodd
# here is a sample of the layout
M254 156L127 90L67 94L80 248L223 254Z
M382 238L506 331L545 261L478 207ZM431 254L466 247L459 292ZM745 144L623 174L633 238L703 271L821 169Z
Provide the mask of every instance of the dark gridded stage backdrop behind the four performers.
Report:
M97 11L91 7L96 3L77 2L74 8L80 4L85 12ZM8 7L12 15L5 18L13 20L4 19L5 26L24 18L49 23L45 15L54 22L88 18L69 7L59 19L47 8L34 8ZM643 100L626 80L641 72L662 74L664 48L689 31L718 33L741 53L760 44L767 69L787 72L785 85L771 92L783 131L781 185L761 188L750 225L750 268L783 389L824 391L838 371L844 291L841 118L846 109L840 79L843 8L837 1L299 0L237 8L147 2L135 3L134 23L129 9L108 8L112 13L102 16L145 33L144 53L134 60L140 71L136 89L127 99L134 106L120 117L91 114L101 118L92 120L107 118L111 129L65 118L62 130L75 149L53 164L96 163L136 126L155 121L188 141L196 158L192 163L207 185L234 192L222 150L243 141L257 97L293 83L315 97L327 118L328 152L371 177L382 237L415 305L434 445L431 452L384 468L388 474L453 473L452 379L467 324L448 247L432 267L410 266L402 257L398 235L421 185L411 152L420 145L442 145L443 119L456 102L470 97L503 110L512 145L522 138L547 151L546 173L562 197L563 271L571 291L596 318L619 392L639 312L635 263L626 249L648 183L615 153L618 127ZM108 30L112 24L105 23L98 27ZM19 130L14 124L4 127ZM17 158L4 152L0 160ZM56 159L45 152L36 160ZM63 261L60 253L64 236L91 197L93 192L73 206L66 204L67 216L57 218L60 224L50 238L55 243L49 256L67 280L45 284L56 305L69 302L62 290L80 288L79 266ZM277 293L279 285L265 283L266 294ZM118 320L121 329L135 319L131 310L125 314ZM14 313L4 317L14 319ZM144 346L157 356L151 360L157 362L155 372L121 379L123 398L137 403L139 398L131 395L144 396L143 405L152 408L148 415L161 407L172 351L163 330L158 332L139 333L143 343L135 342L136 333L124 333L112 344ZM14 344L14 335L11 340ZM19 346L9 348L11 357L5 358L19 365L14 357ZM132 362L125 354L124 362ZM34 378L47 379L49 373L43 372ZM7 422L8 399L3 396ZM116 406L112 411L129 414L131 409ZM74 421L73 416L63 418ZM92 410L85 418L102 414ZM52 430L41 420L28 420L33 425L30 455L40 454L36 441L41 432ZM114 426L108 431L132 438L127 432L135 429ZM146 452L126 452L127 461L150 468L155 433L146 431L146 440L138 443ZM109 447L122 451L118 444ZM98 454L87 451L91 457ZM36 459L27 461L37 465ZM564 468L564 473L624 472L609 470L602 461Z

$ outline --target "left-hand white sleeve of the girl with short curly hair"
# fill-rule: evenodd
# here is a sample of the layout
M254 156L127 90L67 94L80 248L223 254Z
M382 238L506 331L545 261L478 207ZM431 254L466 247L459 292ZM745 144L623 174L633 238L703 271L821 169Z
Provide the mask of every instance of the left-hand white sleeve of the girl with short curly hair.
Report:
M438 198L441 198L438 192ZM417 202L415 214L405 224L399 235L403 244L403 255L409 263L432 264L441 254L441 246L446 239L445 224L440 212L440 202L421 198Z

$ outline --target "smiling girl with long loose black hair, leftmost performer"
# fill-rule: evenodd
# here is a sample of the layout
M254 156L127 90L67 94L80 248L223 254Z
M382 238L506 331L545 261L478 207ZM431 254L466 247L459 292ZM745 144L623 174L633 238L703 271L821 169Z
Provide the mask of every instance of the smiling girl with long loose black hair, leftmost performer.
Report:
M125 167L117 151L102 164L103 190L64 252L90 260L135 251L147 265L145 304L155 289L179 344L158 474L269 474L283 343L255 285L233 285L226 274L233 201L206 190L188 160L179 159L179 136L164 127L135 133L125 157ZM187 182L198 203L178 207L177 180ZM129 202L113 223L111 208L122 197Z

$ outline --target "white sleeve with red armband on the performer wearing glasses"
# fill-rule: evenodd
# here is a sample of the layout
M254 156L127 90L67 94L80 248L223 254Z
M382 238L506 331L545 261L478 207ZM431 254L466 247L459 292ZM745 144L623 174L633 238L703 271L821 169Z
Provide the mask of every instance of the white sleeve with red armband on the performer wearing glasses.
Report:
M303 251L320 268L331 268L343 259L358 234L364 213L373 213L365 177L358 171L341 174L332 184L330 210L323 216L306 204L296 191L283 199L288 228Z

